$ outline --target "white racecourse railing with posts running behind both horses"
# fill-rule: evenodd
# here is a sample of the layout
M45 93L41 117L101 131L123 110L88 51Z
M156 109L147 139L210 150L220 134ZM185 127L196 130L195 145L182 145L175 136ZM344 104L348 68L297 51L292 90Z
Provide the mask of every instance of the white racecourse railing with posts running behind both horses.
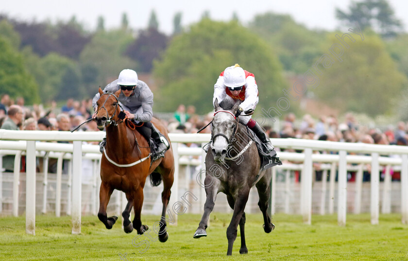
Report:
M40 152L49 152L48 157L60 157L69 158L72 160L72 233L80 233L80 223L81 223L81 161L83 158L100 159L99 148L96 145L82 144L82 141L99 141L105 136L104 132L58 132L58 131L8 131L0 130L0 155L16 155L16 161L22 153L26 151L27 157L27 182L26 188L26 198L27 206L34 206L35 203L35 189L33 191L30 184L35 184L35 157L39 156ZM178 143L205 143L210 139L209 134L170 134L170 140L175 151L175 162L176 162L176 177L178 177L178 164L179 157L183 155L192 156L205 156L201 148L185 148L178 146ZM18 141L12 141L18 140ZM34 142L35 140L42 141L72 141L72 144L61 144L61 143L51 143L51 142ZM303 215L304 222L307 224L311 223L311 189L312 189L312 162L323 162L331 163L330 169L336 170L336 164L339 165L339 182L338 182L338 222L339 225L346 224L346 198L347 198L347 170L348 163L359 163L359 164L371 164L372 168L372 187L371 187L371 223L378 224L378 213L379 213L379 190L378 190L378 178L379 175L379 165L396 165L401 166L401 212L402 212L402 222L408 224L408 147L405 146L395 146L395 145L373 145L365 143L342 143L342 142L331 142L331 141L319 141L319 140L305 140L305 139L272 139L272 144L278 148L285 149L297 149L304 150L305 153L288 153L279 152L278 156L283 160L299 161L304 162L302 166L302 176L301 179L301 213ZM331 151L339 152L336 155L329 154L313 154L313 151ZM371 156L356 156L347 155L348 152L353 153L364 153ZM66 153L63 157L61 153ZM83 155L84 153L84 155ZM380 157L379 155L400 155L398 158L391 157ZM40 153L41 155L41 153ZM43 155L44 156L44 155ZM183 161L183 159L180 159ZM202 157L203 164L204 157ZM16 162L15 162L16 163ZM17 164L18 163L18 164ZM18 172L16 169L19 168L19 162L15 166L15 188L18 189ZM200 162L191 162L191 164L199 164ZM18 166L17 166L18 165ZM279 166L277 168L290 169L295 168L288 166ZM297 167L298 168L298 167ZM327 167L328 168L328 167ZM19 170L18 170L19 171ZM360 172L357 172L360 175ZM330 193L332 195L334 188L334 178L330 179ZM376 178L375 178L376 177ZM1 181L1 175L0 175ZM17 184L17 185L16 185ZM1 185L1 183L0 183ZM325 184L324 184L325 185ZM30 187L31 186L31 187ZM176 187L174 187L176 186ZM174 191L172 192L172 199L177 199L178 184L175 179L173 185ZM357 186L358 187L358 186ZM325 190L325 188L324 188ZM204 190L202 190L204 191ZM13 191L15 192L15 191ZM273 202L272 191L272 202ZM386 192L384 192L386 193ZM18 194L17 194L18 196ZM333 195L334 196L334 195ZM204 194L201 193L201 200L204 202ZM1 199L1 195L0 195ZM34 202L34 203L33 203ZM323 204L323 203L322 203ZM356 201L358 206L358 202ZM170 205L171 206L171 205ZM13 213L15 215L17 210L14 207ZM17 205L18 207L18 205ZM30 207L29 207L30 208ZM333 205L329 206L329 212L332 212ZM34 214L34 218L33 218ZM28 223L28 225L27 225ZM27 233L35 233L35 208L26 210L26 230Z

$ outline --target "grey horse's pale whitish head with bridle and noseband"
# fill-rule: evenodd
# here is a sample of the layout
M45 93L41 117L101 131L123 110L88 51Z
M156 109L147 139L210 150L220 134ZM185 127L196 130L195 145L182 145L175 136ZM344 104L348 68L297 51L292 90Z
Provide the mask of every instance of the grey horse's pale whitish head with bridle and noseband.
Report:
M215 113L212 121L212 149L211 153L215 161L222 161L228 151L228 145L232 142L233 135L238 122L235 113L238 109L238 102L229 110L223 110L218 104L218 99L214 102Z

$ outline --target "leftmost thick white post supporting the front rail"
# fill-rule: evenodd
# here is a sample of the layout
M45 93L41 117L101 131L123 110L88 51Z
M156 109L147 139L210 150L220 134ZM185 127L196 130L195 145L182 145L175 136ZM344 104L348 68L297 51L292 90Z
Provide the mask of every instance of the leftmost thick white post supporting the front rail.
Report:
M27 140L26 233L35 235L35 140Z

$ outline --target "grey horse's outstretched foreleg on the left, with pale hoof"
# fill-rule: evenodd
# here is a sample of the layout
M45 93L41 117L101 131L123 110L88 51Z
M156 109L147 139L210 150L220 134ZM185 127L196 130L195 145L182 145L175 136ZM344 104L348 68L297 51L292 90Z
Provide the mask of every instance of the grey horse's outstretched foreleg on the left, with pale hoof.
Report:
M209 186L210 184L212 185ZM207 228L208 218L210 217L210 213L214 209L214 204L217 198L218 188L220 186L219 184L220 184L220 181L215 177L206 176L204 179L204 185L206 186L205 188L206 199L204 203L204 214L203 214L203 217L201 218L201 221L200 221L200 224L198 225L197 230L194 233L193 238L201 238L201 237L207 236L207 232L205 231L205 229Z

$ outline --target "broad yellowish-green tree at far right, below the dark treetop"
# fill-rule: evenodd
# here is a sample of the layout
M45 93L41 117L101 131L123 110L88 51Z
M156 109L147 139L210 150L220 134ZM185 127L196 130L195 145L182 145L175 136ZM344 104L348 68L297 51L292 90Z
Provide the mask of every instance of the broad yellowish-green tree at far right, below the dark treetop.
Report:
M321 100L343 111L370 116L391 112L393 99L407 87L407 77L397 70L381 38L365 32L362 41L360 36L350 34L356 37L356 41L346 38L349 49L341 45L341 63L328 49L324 50L334 63L327 69L319 65L322 74L315 73L320 78L320 85L313 91ZM340 42L333 35L328 38L326 46L333 47L334 44ZM338 48L335 52L340 53Z

